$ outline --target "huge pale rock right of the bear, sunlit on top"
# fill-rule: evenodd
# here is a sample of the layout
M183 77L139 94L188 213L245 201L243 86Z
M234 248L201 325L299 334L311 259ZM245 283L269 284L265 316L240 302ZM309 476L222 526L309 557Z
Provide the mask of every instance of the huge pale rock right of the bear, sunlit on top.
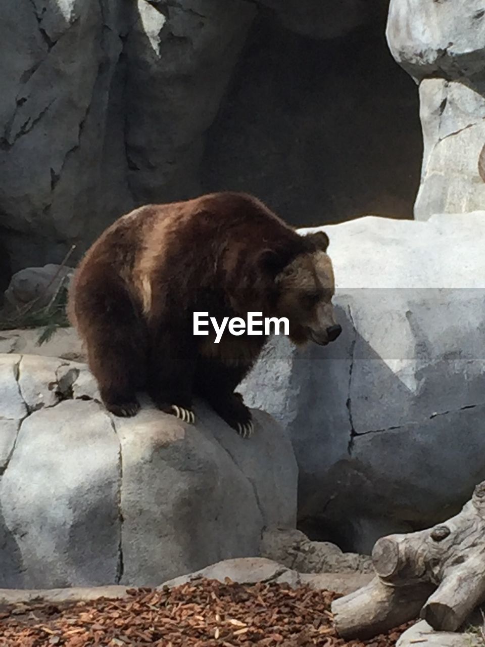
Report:
M290 431L299 516L365 553L484 479L485 212L325 227L341 337L275 338L244 384Z

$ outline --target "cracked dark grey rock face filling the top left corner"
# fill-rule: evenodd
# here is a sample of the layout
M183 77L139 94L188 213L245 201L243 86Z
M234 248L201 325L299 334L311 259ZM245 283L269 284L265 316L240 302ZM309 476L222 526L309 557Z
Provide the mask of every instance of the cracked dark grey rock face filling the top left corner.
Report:
M1 3L0 210L12 271L43 264L47 250L61 261L69 243L57 241L92 235L129 204L122 124L107 104L123 4Z

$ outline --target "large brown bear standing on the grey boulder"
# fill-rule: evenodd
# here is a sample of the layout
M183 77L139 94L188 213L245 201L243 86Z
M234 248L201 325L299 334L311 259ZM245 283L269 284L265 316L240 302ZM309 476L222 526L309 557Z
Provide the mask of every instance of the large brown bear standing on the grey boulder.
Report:
M267 335L194 334L194 313L286 317L296 344L328 344L334 276L323 232L300 236L243 193L149 204L113 223L87 251L72 280L71 322L85 342L102 400L115 415L140 408L136 391L193 422L193 395L238 433L251 413L235 388Z

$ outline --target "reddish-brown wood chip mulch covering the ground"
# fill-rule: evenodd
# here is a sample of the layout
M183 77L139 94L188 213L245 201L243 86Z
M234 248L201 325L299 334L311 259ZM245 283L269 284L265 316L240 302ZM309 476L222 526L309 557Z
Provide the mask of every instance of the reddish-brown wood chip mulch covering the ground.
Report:
M392 647L406 627L371 641L336 635L331 591L195 580L125 598L0 607L1 647Z

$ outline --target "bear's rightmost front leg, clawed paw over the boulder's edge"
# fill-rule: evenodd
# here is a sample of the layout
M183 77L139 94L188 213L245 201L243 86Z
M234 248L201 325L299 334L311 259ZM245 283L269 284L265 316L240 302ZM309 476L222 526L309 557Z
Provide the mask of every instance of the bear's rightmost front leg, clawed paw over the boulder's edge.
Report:
M234 393L234 389L249 369L248 366L225 366L217 358L200 356L194 380L197 394L243 438L253 434L252 414L241 393Z

